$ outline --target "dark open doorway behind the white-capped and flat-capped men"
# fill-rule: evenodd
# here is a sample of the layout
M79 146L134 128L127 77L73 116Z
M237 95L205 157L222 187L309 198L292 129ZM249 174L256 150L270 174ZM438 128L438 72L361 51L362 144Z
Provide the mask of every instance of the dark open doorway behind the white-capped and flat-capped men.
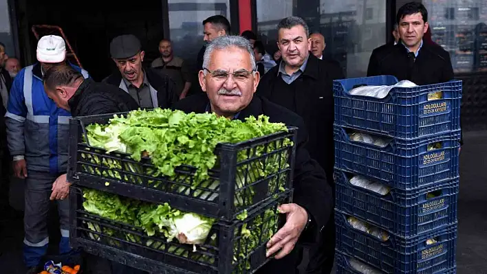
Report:
M120 1L85 0L69 3L61 0L19 1L21 20L20 39L24 60L35 62L36 38L32 25L58 25L67 36L74 52L96 81L116 69L109 55L111 39L120 34L134 34L140 38L146 52L144 63L158 56L158 43L163 38L162 1L147 0L140 4L124 5ZM27 43L25 43L27 41ZM30 64L25 64L30 65Z

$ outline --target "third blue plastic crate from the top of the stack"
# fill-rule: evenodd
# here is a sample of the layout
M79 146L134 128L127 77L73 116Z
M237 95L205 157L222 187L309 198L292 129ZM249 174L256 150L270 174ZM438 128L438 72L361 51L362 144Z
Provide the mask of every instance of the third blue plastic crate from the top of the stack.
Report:
M382 196L352 185L351 173L335 170L335 176L336 209L398 236L418 236L457 222L458 178L418 190L392 188Z

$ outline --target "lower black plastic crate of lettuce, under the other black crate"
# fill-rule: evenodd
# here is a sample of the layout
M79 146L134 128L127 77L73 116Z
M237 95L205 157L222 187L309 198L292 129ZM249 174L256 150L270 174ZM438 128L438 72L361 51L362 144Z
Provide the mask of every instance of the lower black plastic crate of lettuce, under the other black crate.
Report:
M253 273L268 262L266 243L285 222L278 205L292 203L292 190L248 212L247 218L213 225L204 244L167 242L142 227L102 218L83 208L83 190L70 192L72 247L151 273ZM245 229L245 230L244 230Z

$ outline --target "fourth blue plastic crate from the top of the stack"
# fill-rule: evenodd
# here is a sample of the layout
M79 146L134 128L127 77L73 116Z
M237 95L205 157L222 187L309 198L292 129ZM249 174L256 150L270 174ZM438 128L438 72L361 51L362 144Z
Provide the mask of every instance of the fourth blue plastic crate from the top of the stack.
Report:
M347 214L335 211L336 249L385 273L441 273L455 266L457 223L423 236L402 238L389 234L382 241L369 233L354 229ZM426 244L434 239L434 244Z

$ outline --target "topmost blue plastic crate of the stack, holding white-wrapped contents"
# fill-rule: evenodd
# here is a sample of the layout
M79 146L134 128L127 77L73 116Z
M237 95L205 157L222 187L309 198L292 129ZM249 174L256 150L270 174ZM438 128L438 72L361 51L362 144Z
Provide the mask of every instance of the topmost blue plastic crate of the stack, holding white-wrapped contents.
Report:
M377 99L349 95L360 85L393 85L394 76L374 76L334 80L335 124L402 139L426 137L460 129L462 81L391 89ZM433 93L441 92L441 99Z

